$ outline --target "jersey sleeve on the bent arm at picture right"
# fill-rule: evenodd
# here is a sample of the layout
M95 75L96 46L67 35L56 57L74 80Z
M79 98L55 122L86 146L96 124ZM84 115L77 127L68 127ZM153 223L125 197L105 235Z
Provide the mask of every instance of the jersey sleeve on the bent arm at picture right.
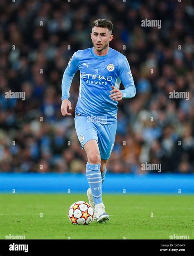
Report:
M126 57L121 64L119 77L124 85L124 90L121 90L123 98L132 98L135 96L136 88L133 81L133 76L131 74L131 69L129 66L129 62Z

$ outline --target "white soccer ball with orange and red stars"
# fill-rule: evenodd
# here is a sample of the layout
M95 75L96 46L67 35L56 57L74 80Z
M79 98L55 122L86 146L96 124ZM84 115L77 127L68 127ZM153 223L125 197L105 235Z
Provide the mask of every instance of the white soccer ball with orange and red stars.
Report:
M88 225L92 222L94 211L92 206L84 201L78 201L69 208L68 217L74 225Z

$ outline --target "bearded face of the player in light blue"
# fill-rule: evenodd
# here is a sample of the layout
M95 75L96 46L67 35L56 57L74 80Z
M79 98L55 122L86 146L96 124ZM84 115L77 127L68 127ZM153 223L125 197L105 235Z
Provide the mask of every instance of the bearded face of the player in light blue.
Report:
M90 35L94 48L98 52L102 52L102 50L108 47L109 42L113 40L113 35L111 35L111 32L107 27L95 26L92 28L92 33Z

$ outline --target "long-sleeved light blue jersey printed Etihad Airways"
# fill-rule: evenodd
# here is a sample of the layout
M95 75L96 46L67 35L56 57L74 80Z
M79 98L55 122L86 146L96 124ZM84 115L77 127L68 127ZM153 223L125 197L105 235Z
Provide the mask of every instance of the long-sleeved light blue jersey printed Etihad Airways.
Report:
M120 88L122 81L124 90L123 98L135 96L136 89L126 57L109 48L108 54L98 56L93 48L75 52L65 69L62 80L62 98L68 99L70 86L74 74L80 70L79 97L76 105L76 114L86 117L104 117L107 124L117 122L117 101L109 95L115 88ZM104 123L104 119L102 120Z

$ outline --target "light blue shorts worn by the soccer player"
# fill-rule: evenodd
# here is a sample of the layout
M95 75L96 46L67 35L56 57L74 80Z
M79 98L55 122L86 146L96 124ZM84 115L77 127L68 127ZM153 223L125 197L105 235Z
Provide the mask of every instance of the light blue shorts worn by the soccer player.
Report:
M101 124L99 122L88 122L86 116L75 116L75 129L81 147L88 141L95 139L99 145L100 156L108 160L111 156L115 143L117 123Z

